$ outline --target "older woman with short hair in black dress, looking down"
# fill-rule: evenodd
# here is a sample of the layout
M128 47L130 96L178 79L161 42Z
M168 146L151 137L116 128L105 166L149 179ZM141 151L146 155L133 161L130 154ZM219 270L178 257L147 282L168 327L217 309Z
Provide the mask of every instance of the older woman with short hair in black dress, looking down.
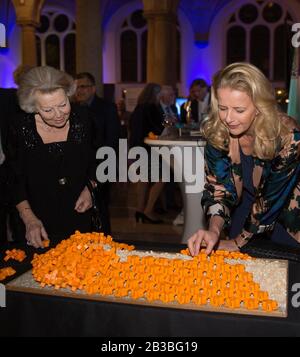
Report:
M28 244L91 230L88 189L95 182L91 128L84 109L72 110L73 79L51 67L36 67L18 90L24 114L12 128L11 165L16 207Z

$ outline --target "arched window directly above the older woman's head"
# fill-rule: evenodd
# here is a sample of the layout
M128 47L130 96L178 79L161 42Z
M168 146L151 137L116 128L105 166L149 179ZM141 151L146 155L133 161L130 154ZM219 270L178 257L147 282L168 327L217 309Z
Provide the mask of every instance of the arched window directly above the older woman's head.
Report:
M76 26L61 12L46 11L36 32L38 65L76 73Z

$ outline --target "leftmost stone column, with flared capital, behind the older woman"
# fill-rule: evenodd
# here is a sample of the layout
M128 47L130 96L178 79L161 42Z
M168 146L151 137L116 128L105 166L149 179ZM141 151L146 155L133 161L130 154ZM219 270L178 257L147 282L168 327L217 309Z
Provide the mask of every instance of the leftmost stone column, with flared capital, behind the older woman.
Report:
M35 30L39 26L44 0L12 0L17 15L17 24L22 31L22 64L36 66Z

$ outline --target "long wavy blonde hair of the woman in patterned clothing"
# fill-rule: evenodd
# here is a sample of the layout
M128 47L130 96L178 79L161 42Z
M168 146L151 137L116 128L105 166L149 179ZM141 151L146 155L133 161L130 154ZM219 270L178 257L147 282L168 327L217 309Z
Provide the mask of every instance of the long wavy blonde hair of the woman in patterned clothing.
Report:
M258 114L253 122L255 132L253 155L262 160L275 157L288 129L282 123L274 91L269 80L249 63L233 63L217 72L211 90L211 110L202 124L202 134L214 147L229 151L230 133L219 118L219 88L231 88L245 92L253 101Z

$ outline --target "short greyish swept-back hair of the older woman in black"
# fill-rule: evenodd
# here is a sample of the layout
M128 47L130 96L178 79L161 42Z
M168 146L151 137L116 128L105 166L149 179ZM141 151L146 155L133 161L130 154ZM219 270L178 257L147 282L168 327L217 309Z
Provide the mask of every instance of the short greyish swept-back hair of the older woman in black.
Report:
M68 97L71 97L76 90L75 81L65 72L53 67L34 67L21 77L18 89L20 107L27 113L34 113L35 94L52 93L58 89L63 89Z

